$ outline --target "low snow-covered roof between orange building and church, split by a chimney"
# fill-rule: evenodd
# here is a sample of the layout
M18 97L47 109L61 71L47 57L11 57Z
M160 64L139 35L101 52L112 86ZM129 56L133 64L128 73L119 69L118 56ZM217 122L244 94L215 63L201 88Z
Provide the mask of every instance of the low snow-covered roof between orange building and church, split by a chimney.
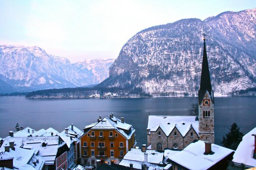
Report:
M144 162L144 153L140 149L131 149L125 154L124 159L132 160L132 161L140 161ZM156 163L156 164L163 164L163 152L158 152L155 150L146 150L147 153L147 162L148 163Z

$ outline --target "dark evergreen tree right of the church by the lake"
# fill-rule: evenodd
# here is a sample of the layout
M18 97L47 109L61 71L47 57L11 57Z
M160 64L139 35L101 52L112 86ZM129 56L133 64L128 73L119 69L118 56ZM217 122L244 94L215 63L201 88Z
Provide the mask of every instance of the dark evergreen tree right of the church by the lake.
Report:
M229 129L229 133L222 138L222 146L236 150L243 136L244 134L240 132L240 128L237 124L233 123Z

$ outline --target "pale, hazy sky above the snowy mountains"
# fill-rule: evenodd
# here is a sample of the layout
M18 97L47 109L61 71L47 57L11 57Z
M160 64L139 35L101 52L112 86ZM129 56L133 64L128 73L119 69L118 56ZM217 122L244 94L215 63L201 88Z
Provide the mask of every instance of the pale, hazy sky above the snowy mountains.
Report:
M0 44L39 46L71 63L117 58L137 32L256 8L256 0L0 0Z

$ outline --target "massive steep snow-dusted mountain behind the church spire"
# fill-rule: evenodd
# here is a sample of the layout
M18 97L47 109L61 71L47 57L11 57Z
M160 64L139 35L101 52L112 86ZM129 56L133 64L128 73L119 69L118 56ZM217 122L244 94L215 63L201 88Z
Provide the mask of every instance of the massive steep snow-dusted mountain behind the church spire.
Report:
M255 87L256 8L142 30L125 43L99 86L132 86L153 96L197 95L203 33L215 96Z

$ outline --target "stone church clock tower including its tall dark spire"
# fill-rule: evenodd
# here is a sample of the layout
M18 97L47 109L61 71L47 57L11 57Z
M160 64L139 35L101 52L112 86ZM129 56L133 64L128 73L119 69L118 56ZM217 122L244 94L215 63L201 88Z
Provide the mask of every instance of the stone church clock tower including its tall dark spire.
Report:
M200 89L198 91L199 139L214 143L214 95L206 53L205 37Z

